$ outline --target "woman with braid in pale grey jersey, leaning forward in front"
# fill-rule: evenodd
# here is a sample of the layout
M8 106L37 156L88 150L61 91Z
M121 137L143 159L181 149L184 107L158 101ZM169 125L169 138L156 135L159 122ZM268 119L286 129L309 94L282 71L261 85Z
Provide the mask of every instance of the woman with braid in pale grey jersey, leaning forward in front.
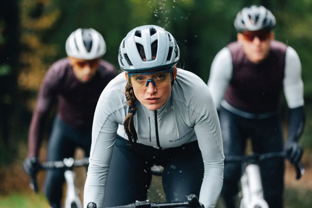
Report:
M98 101L84 207L145 200L150 167L162 165L167 201L194 193L215 207L224 155L217 110L207 85L177 70L180 52L163 28L130 31L119 47L119 74ZM199 194L200 191L200 194Z

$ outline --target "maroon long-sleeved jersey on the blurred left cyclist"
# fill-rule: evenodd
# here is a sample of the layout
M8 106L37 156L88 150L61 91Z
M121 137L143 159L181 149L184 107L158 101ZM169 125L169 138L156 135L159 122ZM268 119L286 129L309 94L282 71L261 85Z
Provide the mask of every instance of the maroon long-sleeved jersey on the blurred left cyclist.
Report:
M91 130L96 103L105 86L116 76L110 63L101 60L94 77L87 83L74 75L67 58L51 65L39 89L29 130L29 154L37 156L38 141L51 104L57 98L57 116L74 128Z

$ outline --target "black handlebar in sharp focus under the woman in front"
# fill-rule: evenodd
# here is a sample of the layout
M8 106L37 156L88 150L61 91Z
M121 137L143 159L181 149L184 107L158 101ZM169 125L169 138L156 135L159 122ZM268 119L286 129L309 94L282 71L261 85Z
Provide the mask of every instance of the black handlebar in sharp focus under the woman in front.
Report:
M198 201L197 196L195 194L188 195L187 201L155 203L149 202L149 200L145 200L145 201L135 201L135 203L129 205L105 207L105 208L174 208L174 207L205 208L204 205ZM97 206L94 202L89 202L87 208L97 208Z

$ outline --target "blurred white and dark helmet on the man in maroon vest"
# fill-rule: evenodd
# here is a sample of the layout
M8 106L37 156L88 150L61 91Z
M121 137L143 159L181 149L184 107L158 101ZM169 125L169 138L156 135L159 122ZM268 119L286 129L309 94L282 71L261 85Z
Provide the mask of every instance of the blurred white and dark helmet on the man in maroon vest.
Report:
M270 10L256 5L244 7L234 20L238 32L272 29L275 23L275 17Z

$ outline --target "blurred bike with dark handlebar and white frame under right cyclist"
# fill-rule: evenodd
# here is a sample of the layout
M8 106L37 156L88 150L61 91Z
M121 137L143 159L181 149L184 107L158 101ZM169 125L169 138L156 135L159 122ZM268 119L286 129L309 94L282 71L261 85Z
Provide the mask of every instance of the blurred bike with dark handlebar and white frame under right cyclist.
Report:
M241 176L242 199L239 208L269 208L264 199L260 167L258 163L269 158L285 158L285 152L269 152L264 154L251 154L249 156L227 156L225 162L241 162L245 170ZM295 164L296 179L305 173L301 162Z

